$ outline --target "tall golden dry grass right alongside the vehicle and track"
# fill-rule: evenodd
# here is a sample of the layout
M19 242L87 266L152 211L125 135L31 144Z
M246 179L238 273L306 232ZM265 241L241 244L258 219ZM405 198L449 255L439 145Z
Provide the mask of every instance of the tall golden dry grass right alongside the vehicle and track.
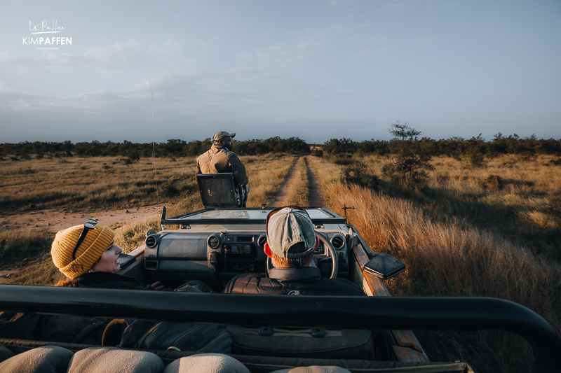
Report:
M343 204L356 206L349 211L349 222L356 225L370 248L388 252L407 265L404 274L387 283L393 295L499 297L536 311L560 328L559 265L457 218L433 219L412 201L356 185L347 187L338 181L342 167L335 164L311 157L311 166L330 208L337 211ZM479 187L468 183L457 184L457 188ZM529 346L508 333L419 336L433 360L463 360L477 372L532 370Z

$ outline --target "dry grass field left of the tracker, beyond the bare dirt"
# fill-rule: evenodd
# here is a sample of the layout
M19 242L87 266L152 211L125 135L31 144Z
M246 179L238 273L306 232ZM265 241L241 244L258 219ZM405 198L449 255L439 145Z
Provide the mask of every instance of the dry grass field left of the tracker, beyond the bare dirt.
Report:
M0 161L0 207L24 211L65 207L130 207L154 203L156 181L163 200L196 190L194 158L124 164L117 157Z

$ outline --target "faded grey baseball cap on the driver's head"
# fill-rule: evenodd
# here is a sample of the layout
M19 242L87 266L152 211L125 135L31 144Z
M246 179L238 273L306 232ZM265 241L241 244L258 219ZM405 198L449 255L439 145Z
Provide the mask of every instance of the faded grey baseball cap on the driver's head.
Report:
M304 242L306 251L288 253L288 249L299 242ZM305 211L286 207L269 218L267 243L280 258L302 258L316 248L316 232Z

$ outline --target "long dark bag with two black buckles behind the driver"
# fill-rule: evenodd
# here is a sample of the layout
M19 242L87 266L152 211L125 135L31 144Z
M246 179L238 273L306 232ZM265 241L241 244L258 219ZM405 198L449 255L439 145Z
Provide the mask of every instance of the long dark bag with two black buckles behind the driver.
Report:
M370 330L245 328L228 325L232 353L257 356L374 360Z

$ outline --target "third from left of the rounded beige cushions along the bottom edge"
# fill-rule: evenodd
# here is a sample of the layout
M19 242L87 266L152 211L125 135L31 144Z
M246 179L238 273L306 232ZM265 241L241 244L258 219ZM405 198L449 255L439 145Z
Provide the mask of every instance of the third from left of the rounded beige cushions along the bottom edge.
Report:
M220 353L200 353L174 360L163 373L250 373L238 360Z

